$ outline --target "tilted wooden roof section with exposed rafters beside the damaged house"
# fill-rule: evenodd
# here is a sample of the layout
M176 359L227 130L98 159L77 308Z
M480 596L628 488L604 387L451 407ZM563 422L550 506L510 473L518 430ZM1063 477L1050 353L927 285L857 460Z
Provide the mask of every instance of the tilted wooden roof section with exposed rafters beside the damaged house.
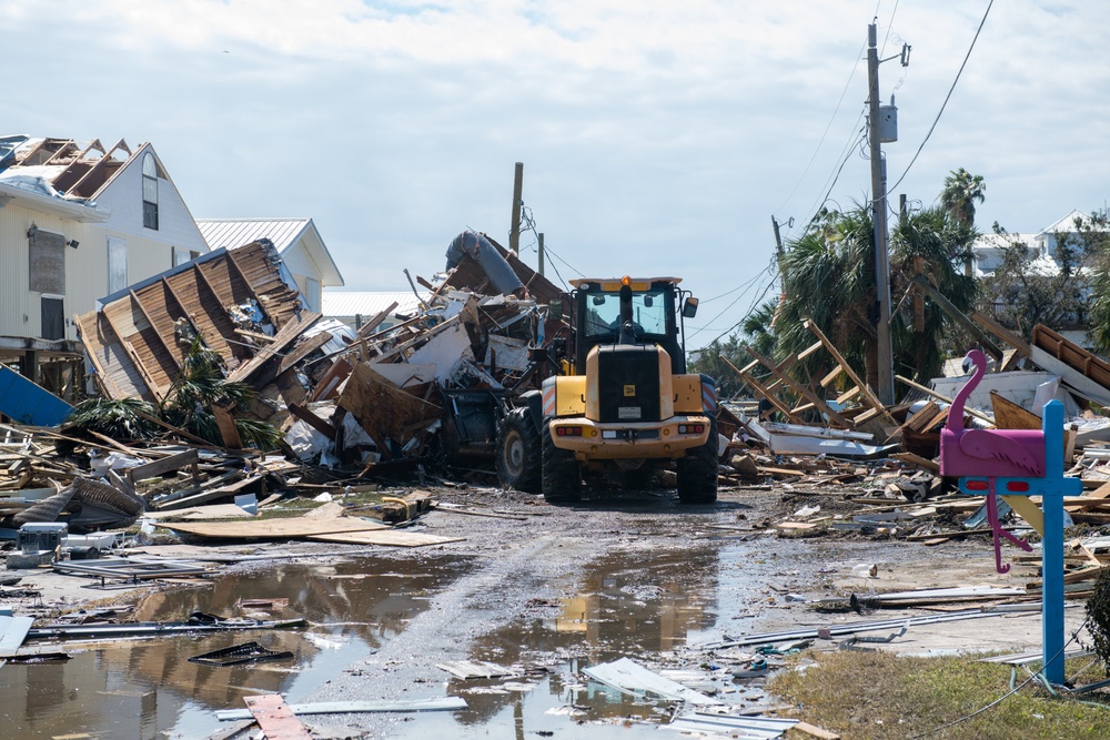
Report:
M282 276L270 242L219 250L103 298L77 317L104 396L161 401L180 372L194 336L223 357L229 376L245 379L320 317L303 311ZM296 331L301 327L301 331ZM261 351L252 335L273 336Z

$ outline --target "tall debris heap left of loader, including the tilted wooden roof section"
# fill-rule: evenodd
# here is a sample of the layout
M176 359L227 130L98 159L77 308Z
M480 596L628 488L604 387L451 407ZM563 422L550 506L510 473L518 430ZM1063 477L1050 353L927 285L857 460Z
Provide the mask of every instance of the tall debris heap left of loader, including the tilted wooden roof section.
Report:
M436 284L418 278L420 311L387 330L395 305L357 332L309 312L266 240L132 285L75 321L110 399L162 403L191 352L218 354L228 381L256 392L249 407L212 407L228 449L244 446L235 419L254 419L279 429L292 459L327 467L488 452L490 414L468 409L536 381L531 351L562 326L537 301L559 290L482 234L460 234L447 257Z

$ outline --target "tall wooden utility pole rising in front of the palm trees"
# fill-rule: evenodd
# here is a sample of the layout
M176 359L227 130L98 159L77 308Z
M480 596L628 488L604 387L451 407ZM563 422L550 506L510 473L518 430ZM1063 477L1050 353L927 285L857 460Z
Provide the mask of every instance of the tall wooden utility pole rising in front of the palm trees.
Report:
M894 349L890 345L890 261L887 254L887 178L879 142L879 50L875 23L867 27L868 133L871 144L871 221L875 223L875 290L879 317L875 326L878 342L879 387L884 404L895 403Z

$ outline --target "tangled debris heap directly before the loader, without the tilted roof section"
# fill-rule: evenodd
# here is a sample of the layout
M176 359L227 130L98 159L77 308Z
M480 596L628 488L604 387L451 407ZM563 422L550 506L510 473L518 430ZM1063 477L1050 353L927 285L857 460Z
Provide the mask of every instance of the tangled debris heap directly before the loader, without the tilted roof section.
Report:
M370 467L432 450L488 453L496 438L490 404L537 387L533 352L557 342L562 326L537 300L558 288L484 235L465 232L452 247L457 254L448 252L437 283L418 278L430 292L415 315L386 331L376 330L392 307L371 318L329 357L305 403L290 407L296 422L286 439L301 459Z

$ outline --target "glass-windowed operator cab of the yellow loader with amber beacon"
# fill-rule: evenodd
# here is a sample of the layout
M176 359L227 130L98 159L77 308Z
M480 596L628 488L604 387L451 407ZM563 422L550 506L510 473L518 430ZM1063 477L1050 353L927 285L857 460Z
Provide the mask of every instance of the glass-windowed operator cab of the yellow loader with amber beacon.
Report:
M575 366L586 366L586 355L597 345L658 344L670 355L672 373L686 373L680 316L692 315L677 277L572 281L575 313ZM692 303L693 302L693 303Z

